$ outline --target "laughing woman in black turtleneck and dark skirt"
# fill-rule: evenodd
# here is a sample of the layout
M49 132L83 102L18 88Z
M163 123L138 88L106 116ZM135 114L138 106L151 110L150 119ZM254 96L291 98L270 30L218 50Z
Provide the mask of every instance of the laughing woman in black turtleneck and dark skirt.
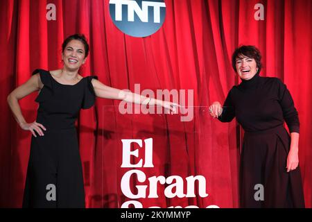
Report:
M245 131L241 207L304 207L298 166L300 124L291 94L279 78L259 76L261 54L254 46L236 49L232 66L242 83L232 87L223 106L216 101L209 110L222 122L236 117Z

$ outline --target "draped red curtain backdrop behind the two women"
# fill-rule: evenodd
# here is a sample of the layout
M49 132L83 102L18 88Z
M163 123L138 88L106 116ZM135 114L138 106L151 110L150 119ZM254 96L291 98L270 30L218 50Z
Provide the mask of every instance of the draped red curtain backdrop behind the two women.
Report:
M56 20L48 21L46 5L56 6ZM153 138L151 176L202 175L209 196L141 198L144 207L197 205L239 207L238 172L240 128L235 121L212 119L207 106L223 103L239 83L231 67L234 49L257 46L263 56L261 76L286 83L300 115L300 167L306 207L312 206L312 1L310 0L165 0L166 19L160 30L145 38L119 31L110 18L108 0L0 1L0 206L21 207L31 133L17 126L6 97L36 68L59 69L64 37L84 33L91 47L80 70L97 75L106 85L134 91L194 89L193 121L180 115L120 114L119 101L97 99L80 112L77 122L87 207L121 207L126 198L121 178L121 139ZM264 6L264 20L254 19ZM28 122L36 117L36 93L20 101ZM144 152L139 152L144 157ZM139 159L135 159L135 162ZM147 180L148 181L148 180ZM131 182L148 185L148 182ZM186 185L186 182L184 182ZM184 190L186 188L184 187Z

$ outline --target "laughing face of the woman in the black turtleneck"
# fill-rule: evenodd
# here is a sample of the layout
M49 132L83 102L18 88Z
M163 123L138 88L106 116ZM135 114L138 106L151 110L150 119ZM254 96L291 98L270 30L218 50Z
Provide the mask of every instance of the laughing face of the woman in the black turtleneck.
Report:
M243 80L250 80L257 74L257 62L248 56L239 55L235 62L236 72Z

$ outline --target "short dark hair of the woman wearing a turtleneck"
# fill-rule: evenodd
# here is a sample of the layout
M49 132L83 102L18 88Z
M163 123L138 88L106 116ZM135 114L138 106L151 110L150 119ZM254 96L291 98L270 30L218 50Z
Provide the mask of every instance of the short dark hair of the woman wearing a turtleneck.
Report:
M261 64L261 53L259 49L257 49L255 46L240 46L239 48L235 49L233 55L232 55L232 67L235 72L236 70L236 58L241 58L241 56L247 56L249 58L253 58L256 63L259 71L262 68ZM259 72L258 71L258 72Z

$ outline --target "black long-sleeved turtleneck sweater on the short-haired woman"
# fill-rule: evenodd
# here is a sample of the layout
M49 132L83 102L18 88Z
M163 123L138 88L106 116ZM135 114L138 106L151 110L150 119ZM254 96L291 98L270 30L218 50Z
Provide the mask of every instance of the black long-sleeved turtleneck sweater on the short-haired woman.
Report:
M290 133L299 133L299 118L293 99L279 78L256 74L232 87L218 119L229 122L234 117L246 132L268 130L286 121Z

